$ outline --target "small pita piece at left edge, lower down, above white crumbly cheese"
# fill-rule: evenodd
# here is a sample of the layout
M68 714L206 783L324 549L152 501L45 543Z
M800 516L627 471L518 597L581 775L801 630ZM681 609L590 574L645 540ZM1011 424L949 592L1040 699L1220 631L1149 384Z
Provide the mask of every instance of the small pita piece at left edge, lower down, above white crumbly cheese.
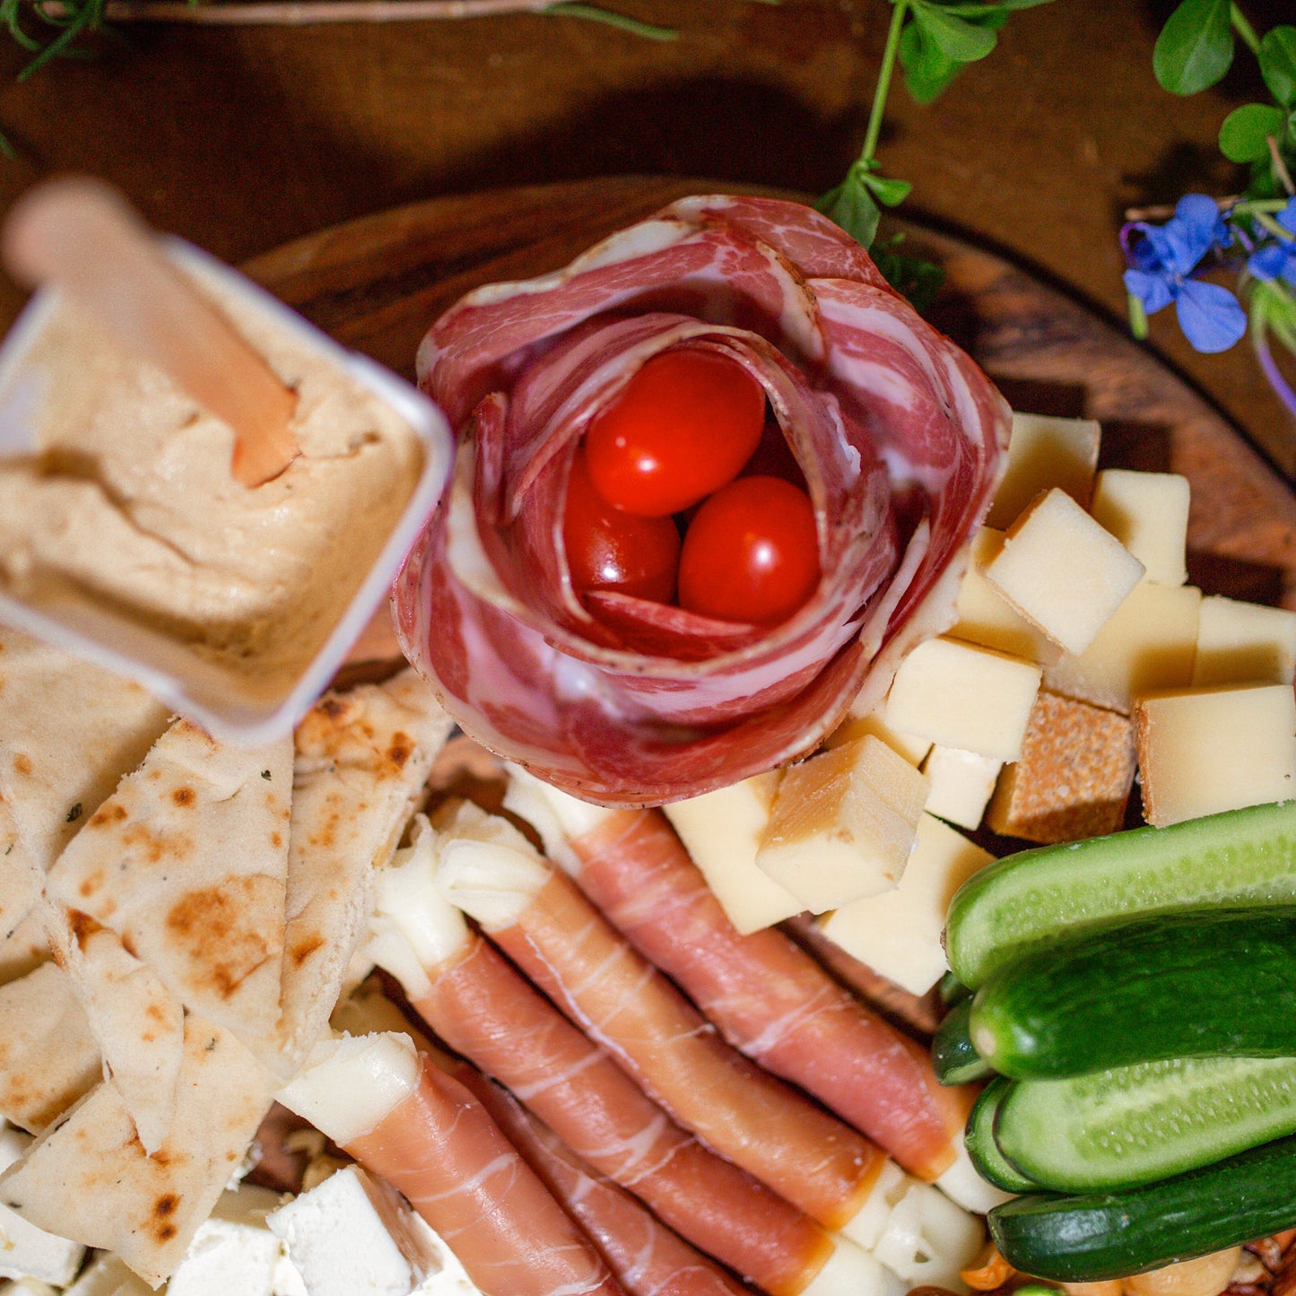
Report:
M0 986L0 1116L39 1134L104 1078L67 973L43 963Z

